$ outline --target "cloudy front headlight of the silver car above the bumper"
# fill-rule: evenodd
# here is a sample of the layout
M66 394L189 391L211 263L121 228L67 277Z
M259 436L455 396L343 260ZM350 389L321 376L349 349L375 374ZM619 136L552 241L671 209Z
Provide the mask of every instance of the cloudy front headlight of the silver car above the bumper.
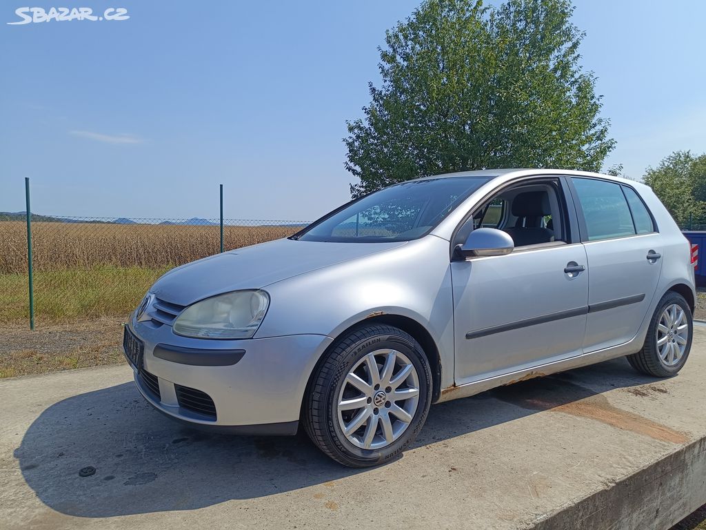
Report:
M270 297L263 290L237 290L196 302L174 321L174 333L196 338L251 338Z

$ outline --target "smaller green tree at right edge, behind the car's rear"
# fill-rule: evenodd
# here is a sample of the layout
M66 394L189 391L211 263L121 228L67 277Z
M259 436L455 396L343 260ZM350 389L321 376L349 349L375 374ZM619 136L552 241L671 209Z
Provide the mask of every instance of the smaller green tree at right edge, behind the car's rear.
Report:
M675 151L657 167L647 167L644 181L678 225L706 224L706 153Z

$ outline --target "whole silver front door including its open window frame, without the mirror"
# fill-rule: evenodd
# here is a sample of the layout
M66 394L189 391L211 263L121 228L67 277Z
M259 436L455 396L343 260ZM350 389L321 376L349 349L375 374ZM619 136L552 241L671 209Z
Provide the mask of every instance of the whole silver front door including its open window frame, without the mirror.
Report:
M530 179L472 216L475 227L505 230L515 249L451 262L456 384L582 353L590 271L565 191L556 178Z

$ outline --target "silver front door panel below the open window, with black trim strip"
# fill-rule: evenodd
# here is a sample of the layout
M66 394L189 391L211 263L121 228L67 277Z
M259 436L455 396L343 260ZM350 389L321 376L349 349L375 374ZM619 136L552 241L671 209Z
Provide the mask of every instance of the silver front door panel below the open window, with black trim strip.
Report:
M453 261L456 384L580 355L588 273L564 269L586 263L580 244Z

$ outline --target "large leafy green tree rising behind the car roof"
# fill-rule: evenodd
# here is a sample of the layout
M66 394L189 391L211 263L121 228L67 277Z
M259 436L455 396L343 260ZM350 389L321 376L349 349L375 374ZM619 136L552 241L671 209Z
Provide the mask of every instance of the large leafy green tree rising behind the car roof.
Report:
M380 88L347 122L359 196L487 167L599 170L615 141L568 0L427 0L385 34Z

